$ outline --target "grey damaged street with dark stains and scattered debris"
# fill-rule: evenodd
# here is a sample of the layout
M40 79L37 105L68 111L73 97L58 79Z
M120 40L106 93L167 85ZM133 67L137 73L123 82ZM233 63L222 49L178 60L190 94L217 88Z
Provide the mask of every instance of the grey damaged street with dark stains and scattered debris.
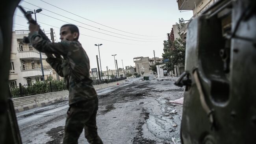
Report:
M141 78L98 91L98 134L105 144L173 144L179 140L183 96L175 78ZM68 101L17 113L24 144L61 144ZM79 144L87 144L84 133Z

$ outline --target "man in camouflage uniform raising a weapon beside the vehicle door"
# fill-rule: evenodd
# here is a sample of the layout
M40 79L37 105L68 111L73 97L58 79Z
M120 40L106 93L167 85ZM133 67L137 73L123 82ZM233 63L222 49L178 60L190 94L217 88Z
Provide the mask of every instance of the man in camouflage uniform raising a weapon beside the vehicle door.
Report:
M43 40L38 34L38 25L30 23L29 29L30 43L37 50L47 54L46 61L59 76L64 77L69 90L70 107L67 112L63 144L77 144L83 128L85 138L90 144L102 144L96 126L98 95L89 78L89 58L78 41L78 27L63 25L60 29L59 43ZM53 57L52 54L57 57Z

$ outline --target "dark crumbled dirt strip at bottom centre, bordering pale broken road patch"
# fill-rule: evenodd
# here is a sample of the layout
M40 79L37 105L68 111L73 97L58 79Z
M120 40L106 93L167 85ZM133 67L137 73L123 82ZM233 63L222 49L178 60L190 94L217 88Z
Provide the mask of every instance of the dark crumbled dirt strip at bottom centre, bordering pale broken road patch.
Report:
M142 110L141 116L143 116L144 119L138 122L138 126L136 128L137 133L134 137L133 144L156 144L155 140L150 140L143 137L142 126L149 118L149 113L144 108Z

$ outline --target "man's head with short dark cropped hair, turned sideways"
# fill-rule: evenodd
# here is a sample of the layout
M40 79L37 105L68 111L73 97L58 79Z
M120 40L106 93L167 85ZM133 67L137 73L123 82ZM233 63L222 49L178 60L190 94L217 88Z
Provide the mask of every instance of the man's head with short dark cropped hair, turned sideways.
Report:
M76 41L79 37L79 30L76 25L66 24L60 28L60 39L68 41Z

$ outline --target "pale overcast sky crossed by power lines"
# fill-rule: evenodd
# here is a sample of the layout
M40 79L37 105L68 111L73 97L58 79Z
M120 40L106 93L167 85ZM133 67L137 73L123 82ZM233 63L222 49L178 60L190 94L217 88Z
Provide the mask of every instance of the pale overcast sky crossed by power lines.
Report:
M61 25L77 25L79 41L89 56L91 68L97 68L99 54L95 44L102 44L102 71L107 66L115 69L113 54L117 54L119 68L122 60L125 68L135 66L135 57L153 58L153 50L161 58L163 41L167 40L172 25L179 18L189 20L193 15L192 11L180 12L176 0L21 0L19 5L26 11L43 9L36 15L37 22L49 38L50 28L54 29L56 42L60 41ZM16 9L13 30L21 29L27 30L28 23Z

